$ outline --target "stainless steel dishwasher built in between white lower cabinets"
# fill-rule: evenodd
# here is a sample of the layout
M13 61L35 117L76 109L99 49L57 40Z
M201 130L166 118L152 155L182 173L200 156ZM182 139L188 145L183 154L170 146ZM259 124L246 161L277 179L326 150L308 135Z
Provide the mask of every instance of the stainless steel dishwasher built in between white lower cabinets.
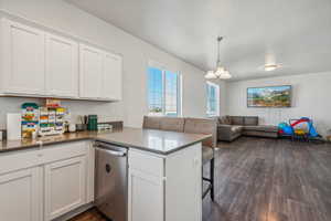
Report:
M111 221L127 221L128 149L96 141L95 206Z

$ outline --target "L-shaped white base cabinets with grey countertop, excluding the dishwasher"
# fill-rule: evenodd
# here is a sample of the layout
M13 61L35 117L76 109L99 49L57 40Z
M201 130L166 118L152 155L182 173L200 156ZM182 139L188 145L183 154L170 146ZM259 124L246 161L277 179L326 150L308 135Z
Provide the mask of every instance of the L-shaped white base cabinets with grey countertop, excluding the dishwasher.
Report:
M0 220L64 220L93 206L98 141L128 149L128 182L122 185L129 221L201 221L201 141L210 137L124 128L2 141ZM12 212L18 203L22 212Z

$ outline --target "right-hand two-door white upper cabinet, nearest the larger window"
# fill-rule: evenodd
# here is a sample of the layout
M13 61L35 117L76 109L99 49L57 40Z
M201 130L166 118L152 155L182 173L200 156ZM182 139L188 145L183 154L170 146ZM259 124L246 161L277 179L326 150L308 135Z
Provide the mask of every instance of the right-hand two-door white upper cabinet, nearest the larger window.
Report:
M79 56L79 96L83 98L120 101L121 56L86 44L81 44Z

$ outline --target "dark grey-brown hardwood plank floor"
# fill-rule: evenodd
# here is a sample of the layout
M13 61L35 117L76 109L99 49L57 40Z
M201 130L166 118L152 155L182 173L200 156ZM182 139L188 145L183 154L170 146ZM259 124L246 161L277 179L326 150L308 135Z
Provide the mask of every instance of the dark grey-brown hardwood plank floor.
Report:
M203 221L331 220L331 144L243 137L220 147ZM72 221L104 220L90 210Z

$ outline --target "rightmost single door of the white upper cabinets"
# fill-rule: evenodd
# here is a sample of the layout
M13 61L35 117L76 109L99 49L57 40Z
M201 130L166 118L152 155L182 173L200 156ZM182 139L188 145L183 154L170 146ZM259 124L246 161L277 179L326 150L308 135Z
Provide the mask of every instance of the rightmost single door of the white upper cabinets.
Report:
M121 99L122 59L119 55L105 53L103 97L111 101Z

